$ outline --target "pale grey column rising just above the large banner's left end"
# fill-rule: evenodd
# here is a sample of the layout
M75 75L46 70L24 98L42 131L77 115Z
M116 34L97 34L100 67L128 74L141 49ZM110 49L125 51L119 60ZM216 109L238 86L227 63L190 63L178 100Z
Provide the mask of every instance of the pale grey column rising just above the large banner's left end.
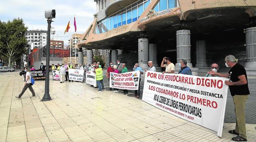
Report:
M149 62L149 39L139 38L138 40L138 63L142 69L148 69Z

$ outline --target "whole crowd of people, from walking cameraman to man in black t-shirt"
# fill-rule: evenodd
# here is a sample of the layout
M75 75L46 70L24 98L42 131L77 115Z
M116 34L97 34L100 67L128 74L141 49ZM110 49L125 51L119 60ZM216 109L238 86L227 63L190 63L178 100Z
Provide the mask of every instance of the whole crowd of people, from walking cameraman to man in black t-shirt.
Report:
M210 71L207 72L205 77L224 77L228 78L228 81L225 81L226 85L229 85L229 89L233 98L233 102L235 105L235 115L236 115L236 125L234 130L230 130L229 133L238 135L234 138L232 138L233 141L236 142L244 142L247 141L247 135L246 135L246 128L245 128L245 102L247 101L247 98L249 97L249 88L248 88L248 81L247 81L247 74L245 71L245 68L238 63L238 60L233 55L227 55L225 58L225 65L226 67L230 67L231 70L226 73L219 73L219 65L217 63L211 64ZM153 62L148 62L149 69L144 70L146 71L156 71L155 67L153 66ZM179 61L178 66L180 67L178 74L186 74L186 75L192 75L192 71L189 67L187 67L187 61L185 59L182 59ZM171 62L171 59L169 57L164 57L160 67L165 68L165 71L162 73L175 73L175 65ZM32 83L31 83L31 74L30 71L34 70L34 67L30 70L28 67L24 68L26 73L26 80L25 80L25 86L21 92L20 95L16 96L16 98L20 99L23 93L26 91L27 88L30 89L32 92L32 97L35 96L34 90L32 89ZM41 64L40 69L45 69L45 66ZM62 64L62 66L59 66L57 64L57 67L52 64L51 67L52 70L58 70L61 80L60 83L63 83L64 81L71 81L69 80L69 69L82 69L85 71L92 71L96 73L96 82L98 84L98 91L104 90L104 84L103 84L103 70L101 68L100 62L94 62L93 64L85 64L78 65L75 64L75 67L72 66L72 64L69 62L68 64L65 62L65 64ZM141 74L144 73L142 68L139 66L139 63L135 63L133 71L139 71ZM113 62L110 62L109 67L107 68L107 78L110 80L110 73L126 73L128 72L128 69L126 67L125 63L121 63L120 60L116 61L116 64ZM84 75L85 76L85 75ZM66 80L64 78L66 77ZM141 98L140 94L140 80L138 82L139 89L135 90L134 97ZM109 91L112 91L112 88L109 88ZM113 89L115 93L119 92L119 89ZM123 90L123 94L128 94L128 90Z

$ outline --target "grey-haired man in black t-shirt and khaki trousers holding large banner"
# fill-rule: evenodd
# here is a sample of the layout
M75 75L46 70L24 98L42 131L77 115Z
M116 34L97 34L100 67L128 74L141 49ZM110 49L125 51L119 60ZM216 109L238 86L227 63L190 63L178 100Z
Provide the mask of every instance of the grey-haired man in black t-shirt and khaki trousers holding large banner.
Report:
M238 59L235 59L233 55L227 55L225 58L226 67L231 67L229 73L222 74L215 71L209 71L211 75L217 75L219 77L229 78L229 81L225 81L226 85L229 85L231 96L235 104L235 129L230 130L229 133L238 135L231 140L235 142L246 142L246 127L245 127L245 102L249 97L248 80L245 68L238 63Z

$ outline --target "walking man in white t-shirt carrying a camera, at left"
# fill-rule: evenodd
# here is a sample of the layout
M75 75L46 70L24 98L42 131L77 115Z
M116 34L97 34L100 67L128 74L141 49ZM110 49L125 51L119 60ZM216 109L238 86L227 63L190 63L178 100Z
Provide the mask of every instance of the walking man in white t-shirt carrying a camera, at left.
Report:
M34 93L34 90L32 88L32 83L31 83L31 73L30 73L30 69L28 69L27 67L25 68L25 72L26 72L26 82L25 82L25 86L23 87L20 95L15 96L15 98L17 99L21 99L21 96L25 93L25 91L27 90L27 88L31 91L32 93L32 97L35 97L36 94Z

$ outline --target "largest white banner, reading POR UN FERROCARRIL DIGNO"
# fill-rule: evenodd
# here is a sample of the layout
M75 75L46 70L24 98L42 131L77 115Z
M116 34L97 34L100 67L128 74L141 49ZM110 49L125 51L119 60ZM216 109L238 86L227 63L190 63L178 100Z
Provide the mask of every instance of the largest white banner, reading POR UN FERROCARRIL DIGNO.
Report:
M226 78L147 71L142 100L222 136Z

